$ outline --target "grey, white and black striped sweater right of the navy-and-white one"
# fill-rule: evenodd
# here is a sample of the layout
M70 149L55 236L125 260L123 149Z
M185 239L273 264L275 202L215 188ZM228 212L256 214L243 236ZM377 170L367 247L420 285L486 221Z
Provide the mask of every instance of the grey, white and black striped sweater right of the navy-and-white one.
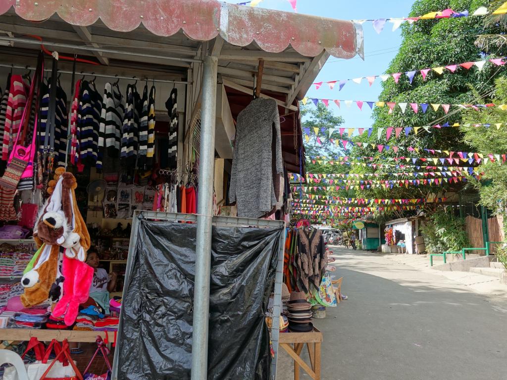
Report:
M115 91L115 89L118 91ZM113 158L120 156L121 130L124 116L124 97L118 87L111 83L106 83L100 115L99 161L97 161L97 168L99 169L102 167L102 160L106 154Z

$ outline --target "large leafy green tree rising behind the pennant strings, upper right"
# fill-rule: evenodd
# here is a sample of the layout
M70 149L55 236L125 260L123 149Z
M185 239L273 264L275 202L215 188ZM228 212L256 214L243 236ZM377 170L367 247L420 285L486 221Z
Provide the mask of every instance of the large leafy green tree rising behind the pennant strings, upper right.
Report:
M452 8L455 11L468 10L472 14L482 6L489 6L495 0L418 0L414 3L410 16L420 16L425 13ZM496 9L494 6L491 9ZM403 73L399 83L393 78L383 82L383 91L379 100L384 102L407 103L434 103L434 104L477 104L480 103L478 94L488 94L493 89L493 78L503 72L503 66L496 66L487 62L482 70L472 67L469 70L458 67L455 73L444 70L443 74L430 71L426 80L417 73L410 83L405 72L424 68L447 66L463 62L472 62L484 59L483 51L476 46L477 35L485 30L482 17L462 17L441 20L419 20L413 24L402 26L403 42L399 53L392 60L386 70L387 73ZM477 93L469 89L474 84ZM429 129L423 128L417 135L412 131L408 136L402 131L398 138L395 133L386 140L386 129L390 127L424 127L436 124L457 123L461 119L461 108L451 107L449 112L440 107L434 111L428 105L424 113L412 111L410 105L407 110L396 106L394 112L389 113L387 106L377 107L373 112L373 133L368 138L365 133L358 138L359 141L400 147L414 147L418 151L410 152L400 148L397 153L392 149L379 153L377 149L354 148L353 156L375 157L374 162L382 163L381 157L431 157L424 149L440 149L448 151L470 151L467 140L462 139L458 128ZM377 131L383 129L381 137ZM434 157L445 157L445 154L436 153ZM410 163L412 164L412 163ZM426 165L419 162L419 165ZM367 168L370 171L371 168ZM415 168L417 169L417 168ZM364 168L363 168L364 170ZM379 169L385 171L385 169ZM423 170L414 170L423 171ZM413 177L412 177L413 178ZM440 196L447 191L456 191L463 186L462 183L442 186L394 186L390 189L373 188L366 192L369 197L376 198L425 198L428 194L437 193Z

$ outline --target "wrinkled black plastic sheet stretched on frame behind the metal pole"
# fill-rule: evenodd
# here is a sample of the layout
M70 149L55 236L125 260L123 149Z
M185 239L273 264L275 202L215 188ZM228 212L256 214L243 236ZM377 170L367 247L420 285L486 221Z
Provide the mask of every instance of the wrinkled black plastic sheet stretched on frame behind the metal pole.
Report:
M196 224L140 220L118 335L119 379L190 379ZM264 323L283 229L213 227L208 379L268 379Z

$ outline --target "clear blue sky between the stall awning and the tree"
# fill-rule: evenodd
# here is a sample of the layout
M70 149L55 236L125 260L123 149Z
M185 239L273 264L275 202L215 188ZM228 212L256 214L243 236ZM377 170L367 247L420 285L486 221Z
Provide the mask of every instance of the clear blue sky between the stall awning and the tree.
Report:
M227 2L237 4L240 0L227 0ZM360 3L350 2L350 0L298 0L297 3L298 13L342 20L406 17L412 4L412 1L407 0L363 0ZM264 0L259 6L280 11L293 11L286 0ZM365 35L365 60L361 60L358 56L349 60L330 57L318 75L316 82L353 79L385 72L400 47L400 29L393 32L391 31L392 24L386 23L384 30L377 34L371 22L365 22L363 29ZM338 91L338 85L333 91L325 84L318 91L312 86L307 96L323 99L375 101L382 91L380 82L380 79L377 78L372 87L369 86L366 80L363 80L360 85L348 82L342 91ZM368 128L371 126L372 112L366 103L363 105L363 111L360 111L355 103L350 108L342 103L341 109L331 103L330 108L334 113L345 119L345 128Z

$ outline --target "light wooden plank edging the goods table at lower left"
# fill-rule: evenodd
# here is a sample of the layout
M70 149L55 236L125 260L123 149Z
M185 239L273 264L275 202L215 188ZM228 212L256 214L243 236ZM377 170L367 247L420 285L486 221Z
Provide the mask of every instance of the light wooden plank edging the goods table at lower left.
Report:
M90 342L94 343L97 336L113 342L115 340L114 331L74 331L74 330L43 330L43 329L23 329L23 328L0 328L0 340L30 340L37 337L40 341L51 341L56 339L62 341Z

